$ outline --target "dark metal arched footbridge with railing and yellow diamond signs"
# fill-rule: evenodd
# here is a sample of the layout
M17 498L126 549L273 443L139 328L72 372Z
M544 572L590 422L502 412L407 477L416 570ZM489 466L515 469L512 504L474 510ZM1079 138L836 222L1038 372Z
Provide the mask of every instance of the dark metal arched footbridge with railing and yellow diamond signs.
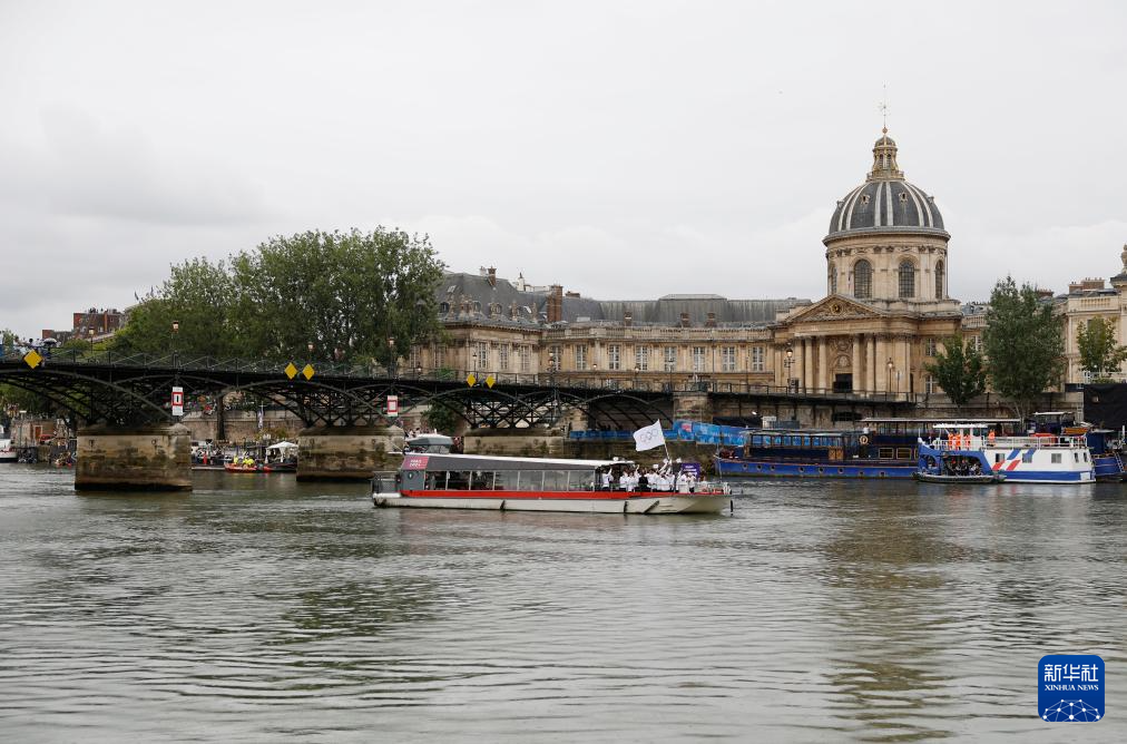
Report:
M281 407L307 426L370 426L389 423L388 398L400 415L420 406L450 409L470 427L553 426L580 411L587 425L628 428L654 420L672 423L678 396L708 396L717 402L746 402L775 411L799 405L836 410L912 408L909 393L850 393L756 383L692 381L636 374L595 379L592 374L514 374L441 370L396 370L293 360L216 360L184 354L148 355L77 349L6 349L0 384L37 393L83 424L172 423L170 391L184 390L186 411L201 400L234 397Z

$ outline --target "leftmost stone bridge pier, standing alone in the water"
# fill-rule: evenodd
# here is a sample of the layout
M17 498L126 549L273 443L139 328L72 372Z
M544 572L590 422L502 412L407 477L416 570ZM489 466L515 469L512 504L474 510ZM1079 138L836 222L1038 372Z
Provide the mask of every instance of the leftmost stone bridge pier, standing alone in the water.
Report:
M74 489L192 490L192 433L180 424L79 429Z

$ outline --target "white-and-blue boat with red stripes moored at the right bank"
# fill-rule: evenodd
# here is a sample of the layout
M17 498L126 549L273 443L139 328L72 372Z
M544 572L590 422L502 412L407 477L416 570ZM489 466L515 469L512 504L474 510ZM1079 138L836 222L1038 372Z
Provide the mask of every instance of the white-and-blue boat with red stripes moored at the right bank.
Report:
M919 442L919 471L942 475L974 470L1006 482L1091 484L1095 469L1083 436L996 436L980 424L939 424L938 436Z

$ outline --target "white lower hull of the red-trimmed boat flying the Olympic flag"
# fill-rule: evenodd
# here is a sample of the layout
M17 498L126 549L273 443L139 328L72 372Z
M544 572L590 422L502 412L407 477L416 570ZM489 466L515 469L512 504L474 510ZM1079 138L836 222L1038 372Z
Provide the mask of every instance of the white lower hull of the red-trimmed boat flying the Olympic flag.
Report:
M629 498L497 498L482 496L403 496L374 494L375 506L402 508L476 508L502 512L580 512L586 514L719 514L731 508L726 494L662 494Z

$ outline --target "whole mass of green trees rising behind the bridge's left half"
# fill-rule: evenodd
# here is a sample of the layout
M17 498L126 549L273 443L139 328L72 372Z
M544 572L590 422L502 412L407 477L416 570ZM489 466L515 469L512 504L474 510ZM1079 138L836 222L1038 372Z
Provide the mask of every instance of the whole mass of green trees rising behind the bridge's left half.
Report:
M440 331L434 298L443 269L426 237L398 230L276 237L229 262L174 266L156 296L131 315L121 344L388 365Z

